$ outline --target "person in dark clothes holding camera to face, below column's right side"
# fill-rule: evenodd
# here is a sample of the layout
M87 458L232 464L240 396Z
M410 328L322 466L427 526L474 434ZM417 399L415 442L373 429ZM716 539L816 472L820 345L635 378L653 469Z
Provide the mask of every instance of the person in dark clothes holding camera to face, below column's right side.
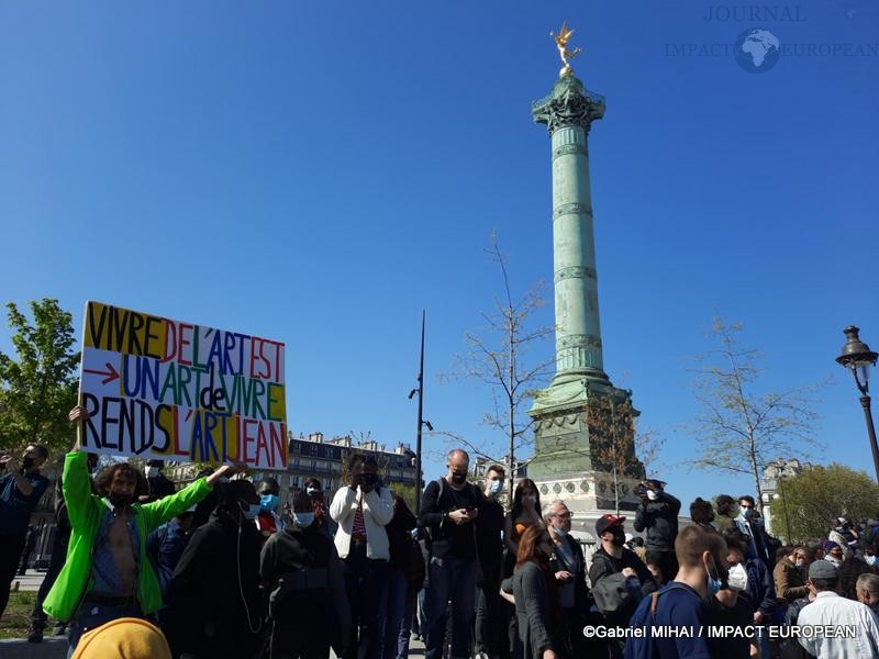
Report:
M635 511L634 527L647 532L647 562L657 566L666 581L678 573L675 538L678 537L680 501L665 491L666 483L648 479L638 485L641 504Z

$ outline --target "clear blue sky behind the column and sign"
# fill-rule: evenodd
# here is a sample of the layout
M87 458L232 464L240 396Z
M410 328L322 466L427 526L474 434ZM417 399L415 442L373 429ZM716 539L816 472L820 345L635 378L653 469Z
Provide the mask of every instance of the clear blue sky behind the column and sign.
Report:
M94 299L285 340L293 432L389 445L414 440L426 308L425 417L490 440L490 393L436 376L499 290L493 230L516 290L552 281L549 143L530 104L567 19L577 74L608 102L590 135L605 369L668 437L669 490L752 489L676 466L715 313L766 354L768 389L835 378L822 459L871 474L833 359L850 323L879 346L879 58L755 75L667 53L750 27L875 44L879 10L717 22L708 7L2 0L0 298L58 298L77 325Z

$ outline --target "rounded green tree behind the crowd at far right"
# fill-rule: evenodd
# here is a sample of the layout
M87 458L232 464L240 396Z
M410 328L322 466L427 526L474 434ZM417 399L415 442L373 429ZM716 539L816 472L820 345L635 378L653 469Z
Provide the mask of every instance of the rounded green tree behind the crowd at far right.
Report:
M774 528L781 535L798 541L819 539L826 537L835 517L853 522L876 517L879 485L863 471L842 465L812 467L779 483L771 511Z

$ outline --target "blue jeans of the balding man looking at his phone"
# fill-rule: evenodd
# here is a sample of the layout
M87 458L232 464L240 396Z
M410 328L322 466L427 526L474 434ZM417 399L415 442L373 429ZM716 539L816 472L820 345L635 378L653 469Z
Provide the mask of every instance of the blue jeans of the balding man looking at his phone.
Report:
M470 656L475 615L476 565L472 560L431 557L429 632L425 659L442 659L448 602L452 601L452 659Z

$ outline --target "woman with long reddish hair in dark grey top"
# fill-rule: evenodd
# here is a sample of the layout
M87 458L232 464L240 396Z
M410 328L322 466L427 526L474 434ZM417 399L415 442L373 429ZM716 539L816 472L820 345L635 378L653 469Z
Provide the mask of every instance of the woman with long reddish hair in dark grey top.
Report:
M532 524L519 539L513 597L522 659L561 657L558 591L549 565L554 546L543 524Z

